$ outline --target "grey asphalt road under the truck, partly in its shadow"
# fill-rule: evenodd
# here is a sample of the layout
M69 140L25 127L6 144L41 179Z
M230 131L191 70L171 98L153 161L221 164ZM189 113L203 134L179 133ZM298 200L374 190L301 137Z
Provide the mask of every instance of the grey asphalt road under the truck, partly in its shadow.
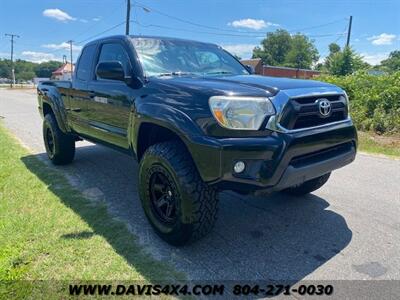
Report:
M0 116L46 161L34 92L0 90ZM134 160L88 142L78 146L75 161L57 169L88 197L107 203L150 255L191 279L400 279L400 160L359 154L302 198L222 193L214 231L174 248L145 219Z

